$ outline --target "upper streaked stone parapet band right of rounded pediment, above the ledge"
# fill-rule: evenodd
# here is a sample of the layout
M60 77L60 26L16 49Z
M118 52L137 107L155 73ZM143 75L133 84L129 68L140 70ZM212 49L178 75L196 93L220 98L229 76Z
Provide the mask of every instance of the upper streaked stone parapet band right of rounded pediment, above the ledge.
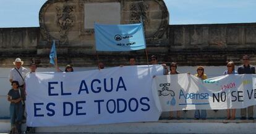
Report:
M169 25L171 49L255 49L256 23Z

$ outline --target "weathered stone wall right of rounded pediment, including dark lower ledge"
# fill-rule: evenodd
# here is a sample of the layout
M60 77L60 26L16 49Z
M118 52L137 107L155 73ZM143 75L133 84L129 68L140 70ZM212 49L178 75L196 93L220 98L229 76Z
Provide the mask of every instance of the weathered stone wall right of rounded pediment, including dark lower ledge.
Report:
M241 64L249 54L256 64L256 23L214 25L169 25L167 61L180 65Z

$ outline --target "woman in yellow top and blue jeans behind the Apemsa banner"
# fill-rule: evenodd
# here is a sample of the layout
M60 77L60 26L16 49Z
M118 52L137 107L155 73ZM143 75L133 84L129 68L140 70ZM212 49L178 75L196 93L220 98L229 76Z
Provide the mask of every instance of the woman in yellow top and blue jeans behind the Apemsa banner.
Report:
M199 77L200 79L204 80L207 79L207 75L205 74L205 69L203 68L203 66L198 66L197 67L197 74L195 74L195 76ZM200 118L202 118L203 120L205 120L207 117L207 111L206 110L201 110L201 114L199 110L195 110L195 119L198 120Z

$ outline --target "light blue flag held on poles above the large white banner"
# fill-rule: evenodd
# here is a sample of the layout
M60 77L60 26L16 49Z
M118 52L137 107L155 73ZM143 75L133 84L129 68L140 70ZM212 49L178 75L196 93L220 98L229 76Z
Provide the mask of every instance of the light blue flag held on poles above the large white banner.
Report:
M95 23L97 51L130 51L146 48L143 24L101 25Z

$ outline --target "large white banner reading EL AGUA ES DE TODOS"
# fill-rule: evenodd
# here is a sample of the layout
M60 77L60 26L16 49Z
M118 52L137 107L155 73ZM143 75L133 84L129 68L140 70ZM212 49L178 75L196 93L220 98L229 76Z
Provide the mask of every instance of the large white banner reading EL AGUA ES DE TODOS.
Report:
M26 78L27 125L156 121L161 108L156 104L160 102L151 83L154 75L161 74L161 65L31 73Z

